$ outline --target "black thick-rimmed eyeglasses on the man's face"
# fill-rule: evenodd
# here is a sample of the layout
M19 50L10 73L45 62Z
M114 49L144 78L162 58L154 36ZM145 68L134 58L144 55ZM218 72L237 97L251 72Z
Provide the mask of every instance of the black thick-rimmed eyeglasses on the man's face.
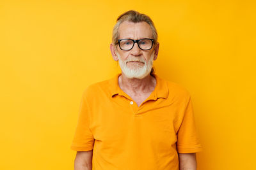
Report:
M141 50L150 50L153 46L154 39L143 38L143 39L118 39L118 45L121 50L131 50L134 43L137 43Z

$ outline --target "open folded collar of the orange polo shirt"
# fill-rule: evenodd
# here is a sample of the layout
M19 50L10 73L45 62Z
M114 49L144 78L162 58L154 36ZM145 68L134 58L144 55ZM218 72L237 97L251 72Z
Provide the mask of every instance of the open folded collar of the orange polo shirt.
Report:
M127 96L127 94L125 94L125 92L120 89L118 85L118 77L120 75L121 73L118 73L115 75L114 78L109 80L109 94L111 95L111 97L115 96L116 94L120 96ZM152 99L154 100L156 100L157 98L167 99L169 94L167 82L162 78L159 78L159 76L157 76L156 74L153 74L153 76L156 78L156 87L152 94L150 94L150 97L152 97Z

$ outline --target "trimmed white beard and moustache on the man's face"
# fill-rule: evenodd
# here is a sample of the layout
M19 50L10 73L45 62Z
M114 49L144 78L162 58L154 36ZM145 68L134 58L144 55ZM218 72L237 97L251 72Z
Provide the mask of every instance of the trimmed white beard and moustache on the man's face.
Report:
M139 79L145 78L145 76L147 76L152 69L154 52L150 56L148 62L146 62L144 59L138 59L136 57L134 57L134 59L122 60L118 53L116 53L116 55L118 57L118 62L122 69L122 72L125 74L125 76L127 76L127 78L139 78ZM140 61L140 62L143 62L144 65L140 66L139 64L133 64L131 69L130 67L127 66L127 62L129 61Z

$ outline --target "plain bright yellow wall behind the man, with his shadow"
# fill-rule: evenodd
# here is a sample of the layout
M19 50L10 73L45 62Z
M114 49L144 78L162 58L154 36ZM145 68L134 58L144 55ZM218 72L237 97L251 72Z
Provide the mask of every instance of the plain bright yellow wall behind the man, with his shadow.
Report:
M156 73L186 87L199 170L256 169L255 1L0 1L0 169L72 169L85 87L112 78L124 11L159 32Z

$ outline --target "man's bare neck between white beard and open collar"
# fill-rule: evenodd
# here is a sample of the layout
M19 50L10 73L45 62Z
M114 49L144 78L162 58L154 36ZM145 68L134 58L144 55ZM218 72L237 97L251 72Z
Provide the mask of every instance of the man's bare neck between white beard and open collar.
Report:
M145 78L127 78L125 74L118 77L118 85L124 92L129 91L132 94L152 92L156 87L156 78L148 74Z

